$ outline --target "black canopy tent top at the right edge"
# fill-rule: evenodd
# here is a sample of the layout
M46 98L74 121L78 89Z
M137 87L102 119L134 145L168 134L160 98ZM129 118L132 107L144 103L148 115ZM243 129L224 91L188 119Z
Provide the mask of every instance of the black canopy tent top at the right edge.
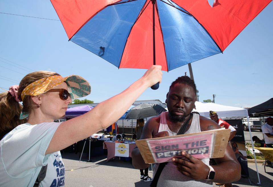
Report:
M250 117L273 116L273 98L247 110Z

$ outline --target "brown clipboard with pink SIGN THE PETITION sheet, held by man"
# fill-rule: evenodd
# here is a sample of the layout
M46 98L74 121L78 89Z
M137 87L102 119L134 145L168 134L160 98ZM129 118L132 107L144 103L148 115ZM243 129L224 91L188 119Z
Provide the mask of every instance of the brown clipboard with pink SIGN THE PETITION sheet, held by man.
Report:
M170 162L182 158L182 151L195 158L221 158L225 155L230 129L137 140L146 164Z

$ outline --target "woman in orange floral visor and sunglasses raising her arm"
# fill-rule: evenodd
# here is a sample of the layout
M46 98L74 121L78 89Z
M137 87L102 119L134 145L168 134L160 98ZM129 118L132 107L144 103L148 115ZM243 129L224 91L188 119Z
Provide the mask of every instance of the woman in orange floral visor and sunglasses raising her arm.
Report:
M146 88L161 82L161 76L161 66L151 66L120 94L79 117L56 123L54 119L65 115L71 99L90 94L90 84L76 75L63 78L46 71L26 75L18 87L11 87L7 93L13 96L12 102L0 108L2 115L12 108L9 105L22 101L20 119L28 117L27 123L17 126L0 141L0 186L34 186L45 173L45 166L46 176L38 185L64 186L65 169L59 151L114 123ZM19 120L12 115L6 118L3 121L6 124Z

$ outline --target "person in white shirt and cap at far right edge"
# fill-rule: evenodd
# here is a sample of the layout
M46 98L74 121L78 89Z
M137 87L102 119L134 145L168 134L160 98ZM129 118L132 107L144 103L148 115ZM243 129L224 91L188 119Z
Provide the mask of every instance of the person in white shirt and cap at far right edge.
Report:
M265 146L273 148L273 118L268 117L266 124L262 126L262 133L264 133Z

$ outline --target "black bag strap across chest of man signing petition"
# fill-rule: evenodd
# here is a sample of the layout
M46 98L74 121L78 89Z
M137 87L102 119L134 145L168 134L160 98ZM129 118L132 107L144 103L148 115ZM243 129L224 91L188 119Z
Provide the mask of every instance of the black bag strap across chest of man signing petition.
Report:
M186 130L188 129L188 124L189 124L189 121L190 119L192 118L193 114L190 113L190 117L189 119L186 121L186 123L184 123L182 125L182 127L180 127L178 133L176 135L181 135L181 134L184 134L186 132ZM156 170L156 173L155 173L155 177L153 178L153 181L151 182L151 187L156 187L157 186L157 182L159 180L159 177L161 175L161 172L163 171L164 167L168 164L168 162L162 162L159 164L157 170Z

